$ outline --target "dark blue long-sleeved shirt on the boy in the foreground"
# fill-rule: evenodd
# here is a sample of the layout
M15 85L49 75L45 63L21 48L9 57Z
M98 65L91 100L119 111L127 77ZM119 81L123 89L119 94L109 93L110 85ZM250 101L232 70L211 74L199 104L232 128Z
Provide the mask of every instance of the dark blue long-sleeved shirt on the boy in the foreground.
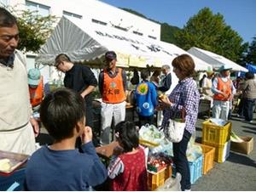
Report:
M50 150L44 146L32 154L26 166L28 190L88 190L108 177L92 142L79 150Z

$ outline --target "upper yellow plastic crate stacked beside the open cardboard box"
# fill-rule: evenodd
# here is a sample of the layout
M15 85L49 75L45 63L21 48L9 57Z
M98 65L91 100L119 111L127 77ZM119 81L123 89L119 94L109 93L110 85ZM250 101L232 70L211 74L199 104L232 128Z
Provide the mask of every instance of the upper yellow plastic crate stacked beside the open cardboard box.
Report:
M230 140L232 124L228 122L224 126L213 124L210 120L202 123L202 143L216 144L219 146Z

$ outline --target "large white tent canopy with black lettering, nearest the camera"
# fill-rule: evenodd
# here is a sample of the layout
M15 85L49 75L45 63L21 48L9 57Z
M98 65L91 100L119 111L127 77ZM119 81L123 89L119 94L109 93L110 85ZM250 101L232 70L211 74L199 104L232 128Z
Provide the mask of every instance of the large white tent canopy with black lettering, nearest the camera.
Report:
M73 61L100 61L113 50L118 55L117 65L146 67L171 65L180 54L189 54L177 46L140 37L109 26L88 24L83 20L62 17L44 46L36 62L53 65L57 54L67 54ZM207 71L212 66L189 54L195 60L196 71Z

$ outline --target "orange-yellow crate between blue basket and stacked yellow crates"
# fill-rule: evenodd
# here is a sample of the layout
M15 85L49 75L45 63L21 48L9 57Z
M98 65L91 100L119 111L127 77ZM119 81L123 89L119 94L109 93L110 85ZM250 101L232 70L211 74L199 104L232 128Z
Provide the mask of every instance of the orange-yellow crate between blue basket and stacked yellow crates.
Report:
M204 156L202 173L203 175L205 175L214 166L215 147L212 147L206 144L199 144L199 145L201 146L203 156Z

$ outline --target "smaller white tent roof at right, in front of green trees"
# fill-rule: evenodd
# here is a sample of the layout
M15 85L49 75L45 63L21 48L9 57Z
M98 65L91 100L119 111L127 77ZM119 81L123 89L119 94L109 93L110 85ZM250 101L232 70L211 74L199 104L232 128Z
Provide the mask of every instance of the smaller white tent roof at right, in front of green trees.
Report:
M230 59L226 59L223 56L219 54L214 54L210 51L203 50L201 48L190 48L188 50L189 54L193 54L196 57L206 61L208 64L212 65L212 68L218 69L221 65L229 65L232 68L232 71L245 71L247 72L247 69L242 67L241 65L236 64Z

